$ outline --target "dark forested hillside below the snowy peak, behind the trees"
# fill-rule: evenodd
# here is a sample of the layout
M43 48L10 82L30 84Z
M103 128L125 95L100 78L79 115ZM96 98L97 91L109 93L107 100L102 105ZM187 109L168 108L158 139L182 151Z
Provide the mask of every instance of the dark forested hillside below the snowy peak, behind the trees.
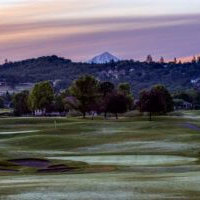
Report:
M58 89L62 89L82 74L92 74L102 81L108 80L115 84L129 82L134 92L157 83L176 91L198 87L200 63L160 64L131 60L88 64L47 56L0 66L0 81L12 86L51 80Z

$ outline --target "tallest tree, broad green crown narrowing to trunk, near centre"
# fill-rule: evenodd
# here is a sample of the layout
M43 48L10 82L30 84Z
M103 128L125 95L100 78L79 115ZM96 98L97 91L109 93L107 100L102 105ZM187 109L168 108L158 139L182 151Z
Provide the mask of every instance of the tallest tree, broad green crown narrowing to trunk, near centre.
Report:
M91 105L95 104L99 97L99 81L90 75L81 76L73 82L69 90L78 100L77 109L85 118L86 112L91 111Z

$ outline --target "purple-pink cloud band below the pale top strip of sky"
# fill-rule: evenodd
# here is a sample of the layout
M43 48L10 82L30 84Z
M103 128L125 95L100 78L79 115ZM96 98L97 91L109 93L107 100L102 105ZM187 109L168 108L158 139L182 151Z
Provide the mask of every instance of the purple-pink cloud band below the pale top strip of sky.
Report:
M84 61L111 51L122 58L199 53L200 15L118 17L0 25L0 60L57 54Z

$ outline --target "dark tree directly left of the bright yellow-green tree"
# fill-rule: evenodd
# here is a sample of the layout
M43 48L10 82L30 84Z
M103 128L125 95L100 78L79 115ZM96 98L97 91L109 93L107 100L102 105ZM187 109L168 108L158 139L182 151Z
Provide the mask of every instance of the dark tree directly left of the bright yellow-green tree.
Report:
M13 97L14 114L21 116L30 113L28 105L29 91L23 91L15 94Z

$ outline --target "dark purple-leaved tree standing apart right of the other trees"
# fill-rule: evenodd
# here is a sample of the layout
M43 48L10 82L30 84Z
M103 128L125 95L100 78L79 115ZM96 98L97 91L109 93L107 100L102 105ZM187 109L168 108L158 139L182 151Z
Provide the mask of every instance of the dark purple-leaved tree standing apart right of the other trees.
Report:
M173 110L173 100L170 93L162 85L156 85L151 90L143 90L139 100L140 112L149 112L149 120L152 114L166 114Z

